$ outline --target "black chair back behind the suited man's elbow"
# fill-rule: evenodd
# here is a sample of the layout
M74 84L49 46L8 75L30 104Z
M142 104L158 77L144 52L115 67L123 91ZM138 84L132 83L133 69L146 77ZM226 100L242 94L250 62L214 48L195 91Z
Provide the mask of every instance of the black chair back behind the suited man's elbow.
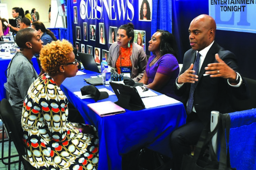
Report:
M232 107L236 111L256 108L256 80L244 78L250 90L250 97L246 100L239 100L233 97L231 99Z

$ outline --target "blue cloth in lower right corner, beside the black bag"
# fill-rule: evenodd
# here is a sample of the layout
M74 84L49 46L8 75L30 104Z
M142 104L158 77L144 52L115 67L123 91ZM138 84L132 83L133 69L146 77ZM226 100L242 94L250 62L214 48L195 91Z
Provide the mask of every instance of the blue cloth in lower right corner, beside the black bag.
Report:
M229 152L237 170L256 170L256 109L229 113Z

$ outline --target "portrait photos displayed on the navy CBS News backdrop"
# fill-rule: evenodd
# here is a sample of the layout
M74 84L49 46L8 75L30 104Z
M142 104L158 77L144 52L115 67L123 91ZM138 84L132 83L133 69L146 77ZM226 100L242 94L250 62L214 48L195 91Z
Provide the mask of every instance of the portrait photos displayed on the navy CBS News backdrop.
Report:
M83 22L80 25L81 18L79 18L79 0L73 0L73 23L75 24L75 48L78 52L88 53L94 56L97 64L100 64L102 58L108 58L108 49L100 49L94 47L95 41L101 45L112 44L117 41L117 26L108 26L105 28L104 22L90 23ZM81 13L81 11L80 11ZM152 20L152 0L138 0L138 14L139 21ZM107 39L108 38L108 39ZM99 41L98 41L99 40ZM91 43L91 42L93 43ZM87 44L88 42L88 44ZM146 51L146 31L134 30L134 42L143 47ZM109 47L109 46L106 46Z

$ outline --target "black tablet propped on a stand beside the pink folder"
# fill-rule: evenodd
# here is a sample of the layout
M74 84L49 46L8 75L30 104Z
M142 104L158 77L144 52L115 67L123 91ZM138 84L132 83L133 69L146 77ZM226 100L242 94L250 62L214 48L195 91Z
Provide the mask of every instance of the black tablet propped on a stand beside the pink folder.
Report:
M135 87L114 82L110 82L110 85L117 95L118 101L115 102L117 105L133 111L145 108Z

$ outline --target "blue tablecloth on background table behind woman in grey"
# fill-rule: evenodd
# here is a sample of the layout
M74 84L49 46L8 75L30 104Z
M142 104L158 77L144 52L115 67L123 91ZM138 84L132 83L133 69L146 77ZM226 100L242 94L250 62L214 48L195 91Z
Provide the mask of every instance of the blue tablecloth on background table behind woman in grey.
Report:
M2 58L0 58L0 100L2 100L3 98L6 98L4 83L6 83L7 78L5 76L5 71L6 71L10 61L11 61L11 59L2 59ZM39 74L40 73L40 68L39 68L39 65L37 63L36 58L33 57L31 61L33 62L33 66L35 68L35 71Z

